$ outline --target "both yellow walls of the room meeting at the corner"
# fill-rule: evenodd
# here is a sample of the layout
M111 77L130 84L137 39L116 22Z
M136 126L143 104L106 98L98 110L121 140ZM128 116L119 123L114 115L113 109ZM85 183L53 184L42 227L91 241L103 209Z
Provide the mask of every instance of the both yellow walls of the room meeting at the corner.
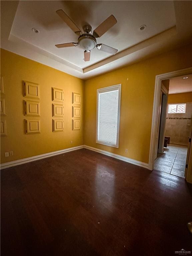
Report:
M7 137L1 137L1 163L89 145L148 163L155 76L192 66L190 46L83 81L64 72L1 49ZM25 134L22 81L40 84L40 134ZM122 84L119 148L97 144L96 91ZM85 85L85 86L84 86ZM51 87L64 90L64 131L52 132ZM72 92L82 95L82 129L72 131ZM84 120L83 120L84 116ZM83 134L84 131L84 134ZM83 136L84 135L84 136ZM73 144L70 141L73 140ZM125 149L128 153L125 153ZM4 157L4 152L14 155Z

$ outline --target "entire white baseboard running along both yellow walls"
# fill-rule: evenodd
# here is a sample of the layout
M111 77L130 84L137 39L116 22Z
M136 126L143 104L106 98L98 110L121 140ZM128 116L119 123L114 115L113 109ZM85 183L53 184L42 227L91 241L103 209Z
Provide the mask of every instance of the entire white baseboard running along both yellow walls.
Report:
M60 155L60 154L63 154L63 153L67 153L67 152L82 149L82 148L86 148L86 149L101 153L103 155L110 156L110 157L125 161L127 163L138 165L138 166L141 166L141 167L144 167L146 169L151 170L151 166L149 166L149 164L147 164L147 163L143 163L143 162L140 162L140 161L137 161L137 160L125 157L125 156L117 155L117 154L114 154L114 153L111 153L111 152L108 152L108 151L105 151L105 150L102 150L102 149L93 148L93 147L90 147L90 146L87 146L87 145L81 145L81 146L77 146L77 147L66 148L66 149L62 149L62 150L58 150L58 151L54 151L54 152L50 152L50 153L46 153L46 154L42 154L42 155L38 155L38 156L32 156L32 157L28 157L28 158L23 158L23 159L7 162L7 163L4 163L4 164L1 164L0 167L1 167L1 169L6 169L6 168L13 167L13 166L16 166L16 165L26 164L26 163L33 162L33 161L36 161L36 160L40 160L40 159L51 157L51 156Z

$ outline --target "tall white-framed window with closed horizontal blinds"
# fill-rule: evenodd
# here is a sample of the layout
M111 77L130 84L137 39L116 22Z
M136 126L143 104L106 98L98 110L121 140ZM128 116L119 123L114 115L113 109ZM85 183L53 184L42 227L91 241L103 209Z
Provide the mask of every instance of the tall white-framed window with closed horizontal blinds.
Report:
M97 90L96 143L119 147L121 84Z

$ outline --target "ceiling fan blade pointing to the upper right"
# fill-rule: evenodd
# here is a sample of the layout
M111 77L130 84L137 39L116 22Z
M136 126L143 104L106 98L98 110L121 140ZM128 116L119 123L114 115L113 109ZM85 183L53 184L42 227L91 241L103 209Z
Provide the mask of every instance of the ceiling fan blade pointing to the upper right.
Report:
M109 16L106 20L104 20L94 31L94 37L101 37L105 32L107 32L111 27L113 27L117 23L117 20L113 15Z

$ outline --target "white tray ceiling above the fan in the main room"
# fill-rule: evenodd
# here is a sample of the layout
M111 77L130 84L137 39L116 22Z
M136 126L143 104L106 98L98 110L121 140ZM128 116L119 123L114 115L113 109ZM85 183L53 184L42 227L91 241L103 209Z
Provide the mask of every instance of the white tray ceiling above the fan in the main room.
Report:
M40 63L87 79L146 57L189 43L192 34L192 1L1 1L1 47ZM182 7L182 8L181 8ZM96 28L108 16L117 19L97 43L119 51L110 55L91 51L83 61L79 46L56 48L77 42L78 36L61 20L63 9L82 29ZM146 24L144 31L139 27ZM32 32L37 28L40 33ZM183 29L185 28L185 29Z

